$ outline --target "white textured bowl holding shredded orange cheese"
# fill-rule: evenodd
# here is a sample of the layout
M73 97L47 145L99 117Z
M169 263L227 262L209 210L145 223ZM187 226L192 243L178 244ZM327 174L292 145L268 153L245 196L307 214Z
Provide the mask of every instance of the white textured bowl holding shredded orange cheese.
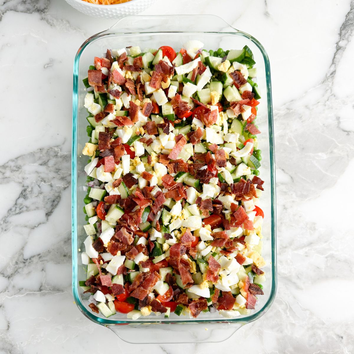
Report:
M146 10L156 0L131 0L117 5L96 5L82 0L65 0L85 15L93 17L120 18Z

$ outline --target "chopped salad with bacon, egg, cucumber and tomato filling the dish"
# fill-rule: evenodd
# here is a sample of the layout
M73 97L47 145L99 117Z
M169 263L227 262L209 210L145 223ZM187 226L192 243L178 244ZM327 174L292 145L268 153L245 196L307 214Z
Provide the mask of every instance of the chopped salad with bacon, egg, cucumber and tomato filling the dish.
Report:
M107 50L84 79L93 312L233 317L263 295L255 61L203 46Z

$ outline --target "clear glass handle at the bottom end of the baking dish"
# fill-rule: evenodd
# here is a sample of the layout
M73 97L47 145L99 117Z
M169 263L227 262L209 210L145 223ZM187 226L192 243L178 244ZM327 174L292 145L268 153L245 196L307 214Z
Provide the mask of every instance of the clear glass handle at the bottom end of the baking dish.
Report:
M128 343L215 343L231 337L243 323L147 323L107 325Z

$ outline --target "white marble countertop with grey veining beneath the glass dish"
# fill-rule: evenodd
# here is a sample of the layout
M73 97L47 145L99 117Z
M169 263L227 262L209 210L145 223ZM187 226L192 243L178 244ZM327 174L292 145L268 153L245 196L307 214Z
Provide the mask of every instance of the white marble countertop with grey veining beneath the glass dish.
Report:
M354 1L156 1L213 13L268 51L275 118L278 293L218 344L132 346L73 303L72 64L114 21L63 0L0 0L0 353L354 352ZM105 344L99 349L100 343ZM102 348L102 347L101 347Z

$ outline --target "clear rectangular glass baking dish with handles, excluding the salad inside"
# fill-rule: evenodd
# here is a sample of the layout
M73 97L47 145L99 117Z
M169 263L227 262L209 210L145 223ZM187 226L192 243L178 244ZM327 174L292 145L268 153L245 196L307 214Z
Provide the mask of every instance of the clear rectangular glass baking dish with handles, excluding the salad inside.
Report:
M169 319L149 315L138 320L129 320L126 314L117 313L114 319L95 314L88 307L89 294L83 294L79 280L85 278L81 264L80 249L86 238L83 225L86 223L82 208L86 176L84 166L87 158L81 151L87 142L85 90L82 79L94 56L101 56L107 48L140 46L158 48L169 45L175 49L191 39L201 40L207 50L221 47L239 49L249 46L254 54L257 67L257 82L262 92L258 106L257 125L262 131L259 147L262 149L261 177L264 179L264 192L261 207L265 218L263 223L263 257L267 262L265 272L267 282L264 295L257 301L256 309L250 315L232 319L223 318L218 313L201 314L197 319L171 314ZM181 342L220 342L230 337L239 327L256 320L270 307L276 292L276 218L275 218L275 170L272 92L270 68L267 53L262 45L251 35L236 30L223 19L212 15L168 15L168 16L129 16L119 20L106 31L87 39L79 48L74 62L73 87L73 150L72 150L72 252L73 252L73 295L81 312L91 321L113 330L121 339L131 343L181 343ZM206 328L208 331L206 331Z

